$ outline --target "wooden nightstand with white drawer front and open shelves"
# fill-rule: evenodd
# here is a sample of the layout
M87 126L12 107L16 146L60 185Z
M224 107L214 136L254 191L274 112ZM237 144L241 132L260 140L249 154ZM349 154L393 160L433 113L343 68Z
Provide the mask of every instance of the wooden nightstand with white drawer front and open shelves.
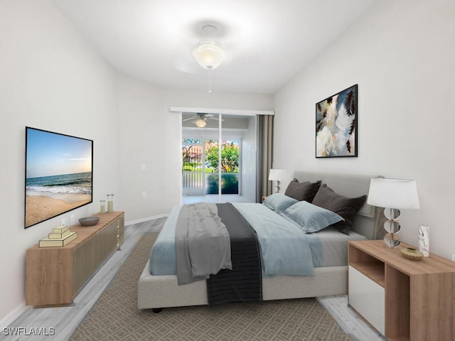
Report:
M455 340L455 263L405 259L402 244L349 242L349 305L387 340Z

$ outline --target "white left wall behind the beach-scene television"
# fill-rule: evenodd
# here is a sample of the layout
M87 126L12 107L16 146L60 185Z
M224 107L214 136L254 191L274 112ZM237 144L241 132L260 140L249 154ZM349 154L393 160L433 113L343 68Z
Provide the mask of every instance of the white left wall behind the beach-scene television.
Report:
M94 140L94 203L77 219L119 193L116 112L114 71L50 1L0 1L0 320L23 307L26 249L70 217L23 227L25 126Z

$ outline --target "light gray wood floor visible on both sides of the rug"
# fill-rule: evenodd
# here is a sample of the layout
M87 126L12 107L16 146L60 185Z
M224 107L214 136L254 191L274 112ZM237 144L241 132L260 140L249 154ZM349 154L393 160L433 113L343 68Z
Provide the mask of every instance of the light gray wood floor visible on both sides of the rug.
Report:
M132 251L142 234L147 231L157 232L159 226L161 226L159 220L126 226L121 250L115 251L99 271L90 278L90 281L82 288L72 305L59 308L28 308L9 325L9 329L5 329L2 326L0 340L68 340L77 325L79 325L120 269L125 259L127 259L129 252ZM353 341L385 340L384 337L378 335L378 332L370 328L348 307L347 296L330 296L318 299ZM13 328L16 328L16 332L14 332ZM23 329L18 330L17 328ZM32 329L40 330L40 328L42 334L53 335L31 335ZM55 332L52 332L52 330Z

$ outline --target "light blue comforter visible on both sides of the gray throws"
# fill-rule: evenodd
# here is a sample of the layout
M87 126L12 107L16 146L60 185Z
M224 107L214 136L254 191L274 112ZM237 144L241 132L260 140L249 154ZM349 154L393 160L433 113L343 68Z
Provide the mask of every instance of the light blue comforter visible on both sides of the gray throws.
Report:
M257 233L262 257L262 276L313 276L309 238L291 222L261 204L233 203ZM150 251L152 275L176 274L176 221L180 206L173 207ZM316 243L317 244L317 243ZM314 248L314 247L313 247ZM322 250L313 250L320 256Z

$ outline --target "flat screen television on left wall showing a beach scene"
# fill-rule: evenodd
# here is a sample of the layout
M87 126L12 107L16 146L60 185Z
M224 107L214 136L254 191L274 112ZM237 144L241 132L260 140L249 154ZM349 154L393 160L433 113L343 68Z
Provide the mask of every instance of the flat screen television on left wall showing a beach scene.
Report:
M93 201L93 141L26 126L25 228Z

